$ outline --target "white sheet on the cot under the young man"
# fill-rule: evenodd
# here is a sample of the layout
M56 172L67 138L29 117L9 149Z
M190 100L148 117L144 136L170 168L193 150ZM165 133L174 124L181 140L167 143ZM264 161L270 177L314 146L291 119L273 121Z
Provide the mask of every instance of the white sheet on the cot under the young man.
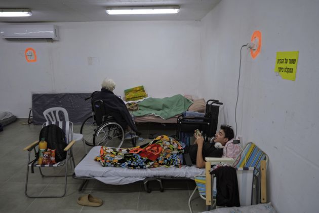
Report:
M165 166L148 169L129 169L121 167L103 167L94 158L99 155L100 146L93 147L86 157L74 169L76 177L94 177L111 185L124 185L142 181L146 177L187 177L193 179L197 174L205 174L205 169L196 166L182 166L181 168Z

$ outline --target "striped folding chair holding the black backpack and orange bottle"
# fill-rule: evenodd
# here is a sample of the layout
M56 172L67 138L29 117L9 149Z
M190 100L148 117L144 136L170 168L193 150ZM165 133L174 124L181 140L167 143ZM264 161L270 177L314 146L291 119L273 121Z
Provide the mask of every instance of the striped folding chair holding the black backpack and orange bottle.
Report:
M30 160L31 157L31 152L32 150L34 151L34 155L36 156L37 150L38 150L38 144L39 141L35 141L34 143L30 144L29 146L27 146L26 148L24 148L24 151L28 151L28 163L27 163L27 173L26 173L26 180L25 180L25 196L29 197L29 198L39 198L39 197L63 197L66 193L66 183L67 183L67 176L71 176L68 175L68 162L70 162L71 165L71 169L75 168L75 163L74 163L74 158L73 158L73 153L72 153L72 145L75 143L75 140L72 140L72 135L73 135L73 124L72 122L69 121L52 121L52 122L46 122L43 124L42 127L44 126L48 126L49 124L55 124L58 127L60 127L64 133L65 133L65 137L66 137L66 143L68 144L64 151L66 152L66 158L60 162L57 162L56 164L45 164L45 165L39 165L37 164L37 158L35 157L34 159ZM46 168L57 168L59 166L64 166L65 167L65 173L63 175L45 175L42 171L42 167L46 167ZM29 168L31 168L31 173L33 173L33 167L38 167L39 168L39 172L41 174L42 177L64 177L64 192L61 195L29 195L27 193L27 188L28 188L28 179L29 179ZM59 170L55 170L55 172L59 172Z

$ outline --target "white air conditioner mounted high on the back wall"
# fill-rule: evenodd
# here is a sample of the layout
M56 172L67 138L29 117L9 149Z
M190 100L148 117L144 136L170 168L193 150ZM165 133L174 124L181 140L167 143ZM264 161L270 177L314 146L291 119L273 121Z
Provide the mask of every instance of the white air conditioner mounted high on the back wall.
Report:
M9 41L58 41L58 27L53 24L12 24L0 27L1 37Z

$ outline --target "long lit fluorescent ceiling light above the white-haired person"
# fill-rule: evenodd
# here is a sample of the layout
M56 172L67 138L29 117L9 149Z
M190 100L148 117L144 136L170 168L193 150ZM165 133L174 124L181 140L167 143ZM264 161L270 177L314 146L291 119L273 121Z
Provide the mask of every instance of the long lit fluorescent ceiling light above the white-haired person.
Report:
M179 6L154 6L154 7L114 7L107 8L109 15L128 14L174 14L179 12Z

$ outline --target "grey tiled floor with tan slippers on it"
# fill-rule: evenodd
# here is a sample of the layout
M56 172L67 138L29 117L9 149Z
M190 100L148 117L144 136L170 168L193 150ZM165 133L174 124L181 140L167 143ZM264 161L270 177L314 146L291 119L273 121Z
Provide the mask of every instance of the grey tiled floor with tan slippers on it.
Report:
M41 126L20 124L18 120L0 132L0 212L189 212L188 198L195 188L193 181L166 180L165 191L159 191L157 182L151 182L151 193L146 193L143 183L112 186L99 181L90 181L85 189L78 192L81 180L68 177L67 192L63 198L27 198L24 195L27 151L23 148L38 139ZM79 133L80 125L74 126ZM175 125L137 125L142 137L148 141L149 134L175 134ZM129 145L129 143L128 143ZM89 148L89 147L88 147ZM85 155L81 141L73 148L75 163ZM57 168L59 172L60 169ZM50 170L51 171L51 170ZM59 193L63 189L63 177L42 178L35 169L29 175L29 194ZM79 196L92 194L103 200L100 207L82 206L76 203ZM192 200L194 212L205 210L205 201L198 193Z

